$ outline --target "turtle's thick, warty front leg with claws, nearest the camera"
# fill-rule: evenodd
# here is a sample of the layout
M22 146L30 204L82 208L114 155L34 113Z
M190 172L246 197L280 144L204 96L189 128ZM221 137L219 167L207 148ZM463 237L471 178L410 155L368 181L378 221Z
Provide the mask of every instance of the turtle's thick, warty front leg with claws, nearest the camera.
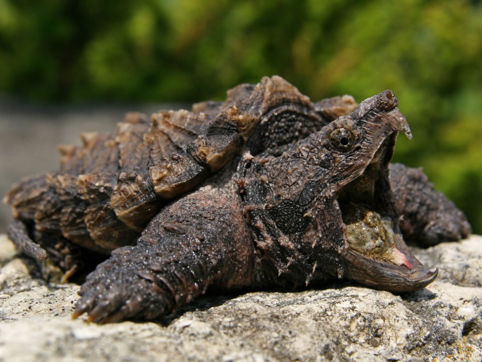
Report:
M239 200L197 191L150 222L135 247L112 252L82 285L73 317L149 320L174 312L208 287L234 289L254 280L253 248Z

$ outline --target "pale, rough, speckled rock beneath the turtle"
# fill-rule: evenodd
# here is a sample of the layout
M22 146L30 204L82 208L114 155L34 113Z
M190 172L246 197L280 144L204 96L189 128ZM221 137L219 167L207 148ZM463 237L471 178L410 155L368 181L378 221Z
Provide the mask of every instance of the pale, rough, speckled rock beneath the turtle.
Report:
M97 325L70 317L78 286L44 282L1 235L0 361L481 361L482 237L414 253L440 269L416 293L208 293L157 323Z

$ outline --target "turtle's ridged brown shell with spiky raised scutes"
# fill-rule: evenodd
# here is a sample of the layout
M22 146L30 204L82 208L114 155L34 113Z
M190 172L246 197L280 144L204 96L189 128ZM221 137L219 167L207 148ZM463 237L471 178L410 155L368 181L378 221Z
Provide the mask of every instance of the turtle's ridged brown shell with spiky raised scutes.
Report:
M60 145L60 170L22 179L4 201L37 233L108 254L133 245L167 202L222 172L241 148L281 154L356 106L348 95L312 103L273 76L190 112L163 111L150 120L129 113L112 134L83 133L82 146Z

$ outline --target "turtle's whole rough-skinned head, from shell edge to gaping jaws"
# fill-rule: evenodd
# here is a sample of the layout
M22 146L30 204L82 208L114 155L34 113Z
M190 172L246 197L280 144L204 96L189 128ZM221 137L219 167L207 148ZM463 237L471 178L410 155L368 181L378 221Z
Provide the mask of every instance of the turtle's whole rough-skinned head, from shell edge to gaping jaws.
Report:
M260 286L348 277L403 292L436 277L409 253L392 206L388 164L397 134L411 137L397 105L385 91L281 156L244 154L239 185Z

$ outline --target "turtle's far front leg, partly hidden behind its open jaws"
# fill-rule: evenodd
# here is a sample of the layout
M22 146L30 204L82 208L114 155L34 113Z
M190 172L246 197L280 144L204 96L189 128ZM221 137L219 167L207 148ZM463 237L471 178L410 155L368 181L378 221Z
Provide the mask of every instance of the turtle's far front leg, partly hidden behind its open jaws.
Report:
M421 169L390 165L390 187L406 240L431 246L467 237L472 228L463 212L432 183Z

